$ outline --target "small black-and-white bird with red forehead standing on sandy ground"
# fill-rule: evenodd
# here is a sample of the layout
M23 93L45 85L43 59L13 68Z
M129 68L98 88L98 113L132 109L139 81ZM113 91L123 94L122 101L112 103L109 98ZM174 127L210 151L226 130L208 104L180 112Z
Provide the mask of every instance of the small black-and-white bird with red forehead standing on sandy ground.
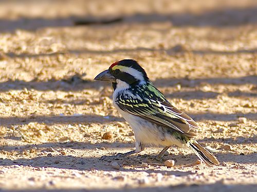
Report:
M164 146L156 156L161 159L176 145L194 152L207 166L219 165L217 158L194 139L196 122L166 99L136 60L116 61L94 80L112 82L113 105L135 135L135 150L118 154L119 157L140 153L145 145L154 145Z

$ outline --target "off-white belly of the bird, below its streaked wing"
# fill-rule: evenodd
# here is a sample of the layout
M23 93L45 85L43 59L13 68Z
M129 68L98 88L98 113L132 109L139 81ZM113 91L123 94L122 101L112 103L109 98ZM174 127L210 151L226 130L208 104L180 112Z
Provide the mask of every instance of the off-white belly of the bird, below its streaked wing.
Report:
M174 138L170 133L163 131L161 126L158 126L138 116L124 112L118 108L115 102L113 103L122 117L131 125L137 141L156 146L170 146L175 144L182 147L182 143Z

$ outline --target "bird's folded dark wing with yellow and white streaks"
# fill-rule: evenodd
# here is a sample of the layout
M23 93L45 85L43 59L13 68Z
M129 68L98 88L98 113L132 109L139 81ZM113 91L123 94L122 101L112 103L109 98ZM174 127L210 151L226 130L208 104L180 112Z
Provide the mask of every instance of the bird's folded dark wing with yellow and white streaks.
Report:
M187 114L176 109L155 87L144 92L120 94L115 103L127 113L140 116L161 126L194 137L197 124Z

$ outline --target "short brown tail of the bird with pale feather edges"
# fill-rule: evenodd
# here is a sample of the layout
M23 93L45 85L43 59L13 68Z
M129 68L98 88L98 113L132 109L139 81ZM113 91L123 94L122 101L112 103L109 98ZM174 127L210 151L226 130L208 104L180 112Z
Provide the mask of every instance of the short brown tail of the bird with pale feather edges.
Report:
M191 139L188 142L188 145L195 153L195 155L197 155L197 157L199 157L201 161L204 161L206 165L219 165L219 161L217 160L217 158L209 151L207 151L204 147L202 147L197 141Z

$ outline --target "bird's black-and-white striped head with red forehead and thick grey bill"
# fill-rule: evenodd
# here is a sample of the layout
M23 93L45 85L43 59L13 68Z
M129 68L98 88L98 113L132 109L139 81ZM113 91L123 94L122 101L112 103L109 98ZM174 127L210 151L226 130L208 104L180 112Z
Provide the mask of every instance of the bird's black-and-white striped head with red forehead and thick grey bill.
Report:
M113 83L143 84L149 80L144 69L132 59L114 62L109 69L98 74L94 80L111 81Z

